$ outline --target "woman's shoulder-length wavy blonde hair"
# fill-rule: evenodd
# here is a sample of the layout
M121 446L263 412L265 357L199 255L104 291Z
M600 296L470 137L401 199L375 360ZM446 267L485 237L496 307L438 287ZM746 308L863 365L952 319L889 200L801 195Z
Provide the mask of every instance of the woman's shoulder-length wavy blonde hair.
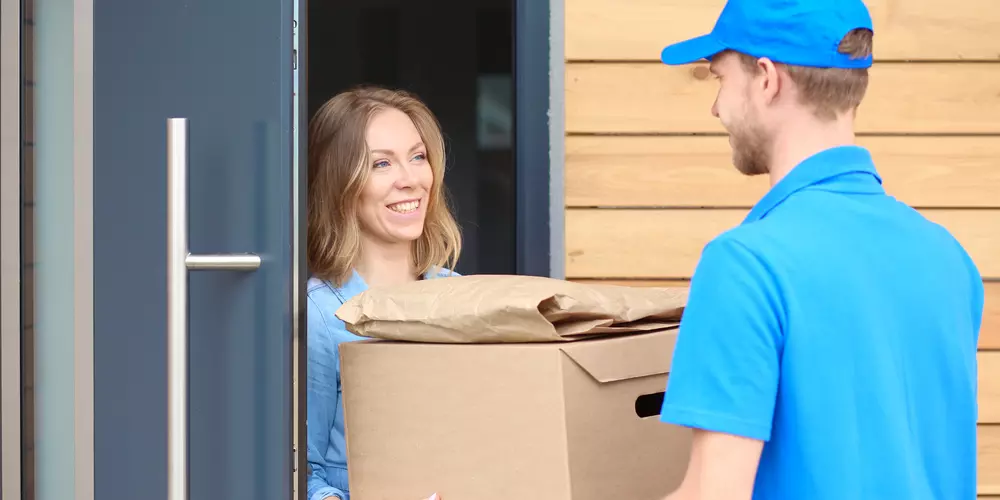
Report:
M372 117L397 109L413 121L427 148L434 175L424 230L413 245L420 274L454 268L461 234L445 200L444 138L437 118L413 95L378 87L359 87L336 95L309 122L307 263L310 272L343 285L361 254L358 200L371 173L365 140Z

